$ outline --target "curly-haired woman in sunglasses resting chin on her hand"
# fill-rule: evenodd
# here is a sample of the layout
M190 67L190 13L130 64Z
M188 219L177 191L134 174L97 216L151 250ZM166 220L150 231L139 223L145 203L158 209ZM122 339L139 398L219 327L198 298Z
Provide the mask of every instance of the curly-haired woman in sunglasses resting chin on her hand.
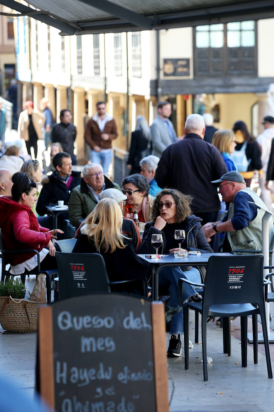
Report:
M189 204L191 197L174 189L163 189L154 199L151 209L151 222L145 225L142 243L138 253L155 253L152 246L152 234L162 234L163 246L159 248L159 253L174 253L178 249L177 240L175 240L175 229L185 231L185 240L182 242L182 251L200 251L201 253L212 253L200 222L201 218L191 215ZM162 294L170 295L170 306L178 307L178 279L185 277L193 282L200 283L200 272L194 267L163 267L159 272L159 290ZM196 290L189 285L184 286L184 301L191 298L194 302L201 302L201 297ZM180 311L171 319L170 323L170 341L168 346L168 356L180 356L181 338L184 333L183 313Z

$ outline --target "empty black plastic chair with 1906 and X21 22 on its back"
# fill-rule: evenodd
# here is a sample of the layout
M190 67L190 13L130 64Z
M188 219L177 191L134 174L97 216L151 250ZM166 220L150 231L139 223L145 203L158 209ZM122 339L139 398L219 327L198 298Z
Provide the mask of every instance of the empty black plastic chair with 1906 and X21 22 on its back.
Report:
M235 270L234 270L235 269ZM239 270L238 270L239 269ZM237 271L237 272L236 272ZM242 273L241 273L242 271ZM241 276L235 280L230 276ZM203 286L203 302L183 304L183 283ZM269 281L267 282L269 283ZM241 351L242 367L247 366L247 316L252 315L253 323L253 358L258 363L258 326L257 315L260 314L265 343L268 377L272 378L272 368L265 317L265 296L263 279L263 255L211 256L207 263L205 284L197 284L187 279L179 279L178 301L184 312L184 367L189 368L189 308L202 315L202 350L204 381L207 372L207 316L223 317L226 333L230 332L230 316L241 316ZM225 338L224 338L225 339ZM224 342L225 344L225 342Z

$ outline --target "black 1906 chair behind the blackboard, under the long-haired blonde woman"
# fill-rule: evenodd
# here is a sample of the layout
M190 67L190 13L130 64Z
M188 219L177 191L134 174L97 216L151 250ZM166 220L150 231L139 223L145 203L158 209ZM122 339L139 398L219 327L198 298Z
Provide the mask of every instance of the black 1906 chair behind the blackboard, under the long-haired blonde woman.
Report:
M136 280L110 282L104 259L99 253L56 252L55 257L59 273L59 299L91 292L111 293L111 286L136 282ZM147 288L146 280L144 290L145 287Z

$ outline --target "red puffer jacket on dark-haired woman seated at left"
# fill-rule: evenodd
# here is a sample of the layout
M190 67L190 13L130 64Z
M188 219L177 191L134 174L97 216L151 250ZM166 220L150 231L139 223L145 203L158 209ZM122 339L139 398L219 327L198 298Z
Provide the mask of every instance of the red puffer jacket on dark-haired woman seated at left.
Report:
M51 240L49 229L39 226L28 206L15 202L11 196L0 198L0 228L6 249L35 249L40 252ZM8 255L11 265L18 265L32 258L35 252Z

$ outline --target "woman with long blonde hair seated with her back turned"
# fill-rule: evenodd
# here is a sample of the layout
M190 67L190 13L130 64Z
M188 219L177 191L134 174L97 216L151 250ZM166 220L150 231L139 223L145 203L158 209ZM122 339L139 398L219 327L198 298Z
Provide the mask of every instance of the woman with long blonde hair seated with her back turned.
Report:
M147 276L149 264L134 253L132 244L122 234L122 222L118 203L113 199L100 200L81 227L72 253L100 253L110 281L140 281ZM134 288L139 289L136 283ZM131 292L132 288L126 291Z

